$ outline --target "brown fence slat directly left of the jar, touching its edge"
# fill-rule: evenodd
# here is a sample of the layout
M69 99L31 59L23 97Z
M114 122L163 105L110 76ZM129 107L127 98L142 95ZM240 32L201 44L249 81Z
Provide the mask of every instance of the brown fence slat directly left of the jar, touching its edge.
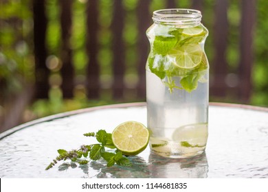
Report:
M146 30L153 24L152 14L149 12L150 0L139 0L137 4L137 71L139 82L137 83L137 97L145 101L145 65L148 58L149 42Z

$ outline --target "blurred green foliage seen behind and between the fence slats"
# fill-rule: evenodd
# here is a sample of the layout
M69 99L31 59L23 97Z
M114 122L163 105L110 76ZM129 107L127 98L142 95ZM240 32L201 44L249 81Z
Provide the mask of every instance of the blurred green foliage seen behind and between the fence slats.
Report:
M85 87L82 82L85 80L85 67L87 57L85 51L86 36L86 15L85 3L87 0L74 0L73 3L73 30L71 37L71 48L74 51L74 67L76 71L76 86L74 99L64 100L60 93L61 78L59 49L60 49L60 23L59 8L57 0L47 0L47 67L51 71L49 82L51 91L48 100L35 101L29 107L36 117L50 115L56 112L74 110L87 106L96 106L102 104L112 104L111 97L111 18L113 14L113 1L100 0L99 2L99 43L100 52L98 60L100 62L101 84L103 94L98 101L89 101L85 95ZM268 23L267 8L268 1L257 1L256 30L254 32L254 67L252 71L252 82L254 88L249 104L258 106L268 106ZM32 19L32 1L30 0L9 0L3 3L0 0L0 116L3 112L3 103L6 97L19 94L25 85L34 83L34 55L33 55L33 19ZM126 44L126 85L130 88L137 83L137 71L135 64L137 62L137 19L135 8L137 0L124 0L124 9L126 10L124 41ZM150 12L153 10L165 8L165 1L152 0ZM213 22L214 22L214 4L213 0L205 0L203 5L203 23L211 32L205 45L208 59L213 59ZM229 62L230 73L238 67L238 39L239 39L239 21L240 21L241 1L229 1L228 19L229 19L229 39L227 48L227 61ZM190 1L178 1L178 8L190 8ZM149 27L149 26L148 26ZM144 34L145 35L145 34ZM144 42L148 43L148 42ZM145 64L144 64L145 65ZM126 101L136 101L135 97L127 95ZM231 100L232 101L232 100Z

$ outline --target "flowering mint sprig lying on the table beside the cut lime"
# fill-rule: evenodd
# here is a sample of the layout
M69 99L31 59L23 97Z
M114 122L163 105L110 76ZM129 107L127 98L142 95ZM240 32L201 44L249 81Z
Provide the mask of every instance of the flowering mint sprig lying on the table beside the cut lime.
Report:
M111 139L111 133L107 133L105 130L99 130L98 132L89 132L84 134L84 136L96 137L99 143L91 145L81 145L79 149L73 149L67 151L65 149L58 149L58 156L52 163L50 163L45 170L51 169L60 160L71 160L72 162L79 163L80 165L85 165L89 163L90 160L99 160L103 158L107 161L107 167L111 167L115 164L131 167L131 161L126 158L118 149L113 145L113 140ZM107 152L106 147L110 149L115 149L114 152Z

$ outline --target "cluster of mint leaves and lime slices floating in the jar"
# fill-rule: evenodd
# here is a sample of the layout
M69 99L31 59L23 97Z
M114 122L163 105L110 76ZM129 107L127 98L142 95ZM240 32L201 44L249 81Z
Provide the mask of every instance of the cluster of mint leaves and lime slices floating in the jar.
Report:
M203 25L177 28L161 24L150 30L153 33L148 34L154 34L154 38L149 39L151 50L146 69L157 75L170 93L174 89L191 93L199 82L208 82L205 80L208 59L201 45L208 30ZM187 67L183 65L185 63L188 63Z

